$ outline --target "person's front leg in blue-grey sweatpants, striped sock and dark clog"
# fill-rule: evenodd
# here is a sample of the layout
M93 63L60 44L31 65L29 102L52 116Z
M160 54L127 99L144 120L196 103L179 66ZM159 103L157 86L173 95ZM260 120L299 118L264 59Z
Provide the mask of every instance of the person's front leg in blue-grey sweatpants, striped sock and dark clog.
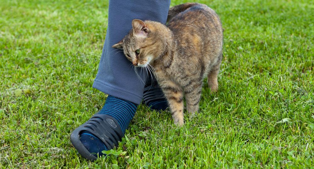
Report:
M114 145L116 146L115 140L112 140L113 137L109 143L105 143L106 139L114 135L115 133L112 133L114 131L118 131L116 133L121 133L120 135L123 136L138 104L141 103L143 98L145 86L142 81L146 81L147 77L141 74L142 79L139 79L123 52L111 48L111 46L127 35L132 28L133 19L154 20L165 23L169 5L170 0L109 1L106 40L100 58L98 74L93 84L94 88L109 96L99 113L100 115L91 118L76 129L80 129L79 131L74 130L73 134L71 134L71 141L81 155L86 152L81 153L83 151L82 145L90 153L99 153L99 155L102 155L102 150L112 148L110 143L115 143ZM106 117L106 122L103 122L105 121L103 117ZM98 122L96 123L97 120ZM100 123L106 123L107 126ZM100 125L100 127L97 127L97 125ZM98 134L99 130L98 133L95 133L96 128L104 128L106 130L104 133L106 132L107 135ZM108 136L108 134L111 136ZM81 142L78 142L78 138Z

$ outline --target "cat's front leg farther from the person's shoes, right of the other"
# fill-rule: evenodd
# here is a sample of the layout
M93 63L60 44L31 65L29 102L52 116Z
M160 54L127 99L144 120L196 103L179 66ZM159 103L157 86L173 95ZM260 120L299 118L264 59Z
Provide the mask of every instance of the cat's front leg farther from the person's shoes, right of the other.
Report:
M184 88L187 112L189 112L191 115L198 112L201 93L202 82L194 82Z

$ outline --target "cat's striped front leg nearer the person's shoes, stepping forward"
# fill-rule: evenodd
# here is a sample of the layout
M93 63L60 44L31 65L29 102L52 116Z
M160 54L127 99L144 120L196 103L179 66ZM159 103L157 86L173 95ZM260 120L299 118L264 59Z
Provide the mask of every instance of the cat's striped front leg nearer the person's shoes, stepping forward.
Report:
M174 123L182 126L184 124L182 89L170 80L161 81L159 84L168 101Z

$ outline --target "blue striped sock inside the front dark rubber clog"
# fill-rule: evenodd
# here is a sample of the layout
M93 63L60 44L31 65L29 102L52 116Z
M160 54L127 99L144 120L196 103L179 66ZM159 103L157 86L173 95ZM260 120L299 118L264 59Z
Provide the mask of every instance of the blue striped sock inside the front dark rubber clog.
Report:
M99 113L107 114L115 118L124 134L135 114L137 106L137 104L130 101L110 95L107 97L105 105ZM87 131L80 134L80 140L90 153L95 153L95 156L97 153L99 153L99 155L103 155L101 151L108 150L106 145L100 139Z

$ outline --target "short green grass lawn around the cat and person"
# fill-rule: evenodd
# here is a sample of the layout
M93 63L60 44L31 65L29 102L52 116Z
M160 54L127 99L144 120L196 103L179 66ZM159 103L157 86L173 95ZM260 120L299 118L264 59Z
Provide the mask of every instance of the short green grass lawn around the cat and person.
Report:
M225 29L219 92L182 128L139 106L126 154L89 162L69 136L106 99L108 2L0 0L0 168L314 168L313 1L198 2Z

